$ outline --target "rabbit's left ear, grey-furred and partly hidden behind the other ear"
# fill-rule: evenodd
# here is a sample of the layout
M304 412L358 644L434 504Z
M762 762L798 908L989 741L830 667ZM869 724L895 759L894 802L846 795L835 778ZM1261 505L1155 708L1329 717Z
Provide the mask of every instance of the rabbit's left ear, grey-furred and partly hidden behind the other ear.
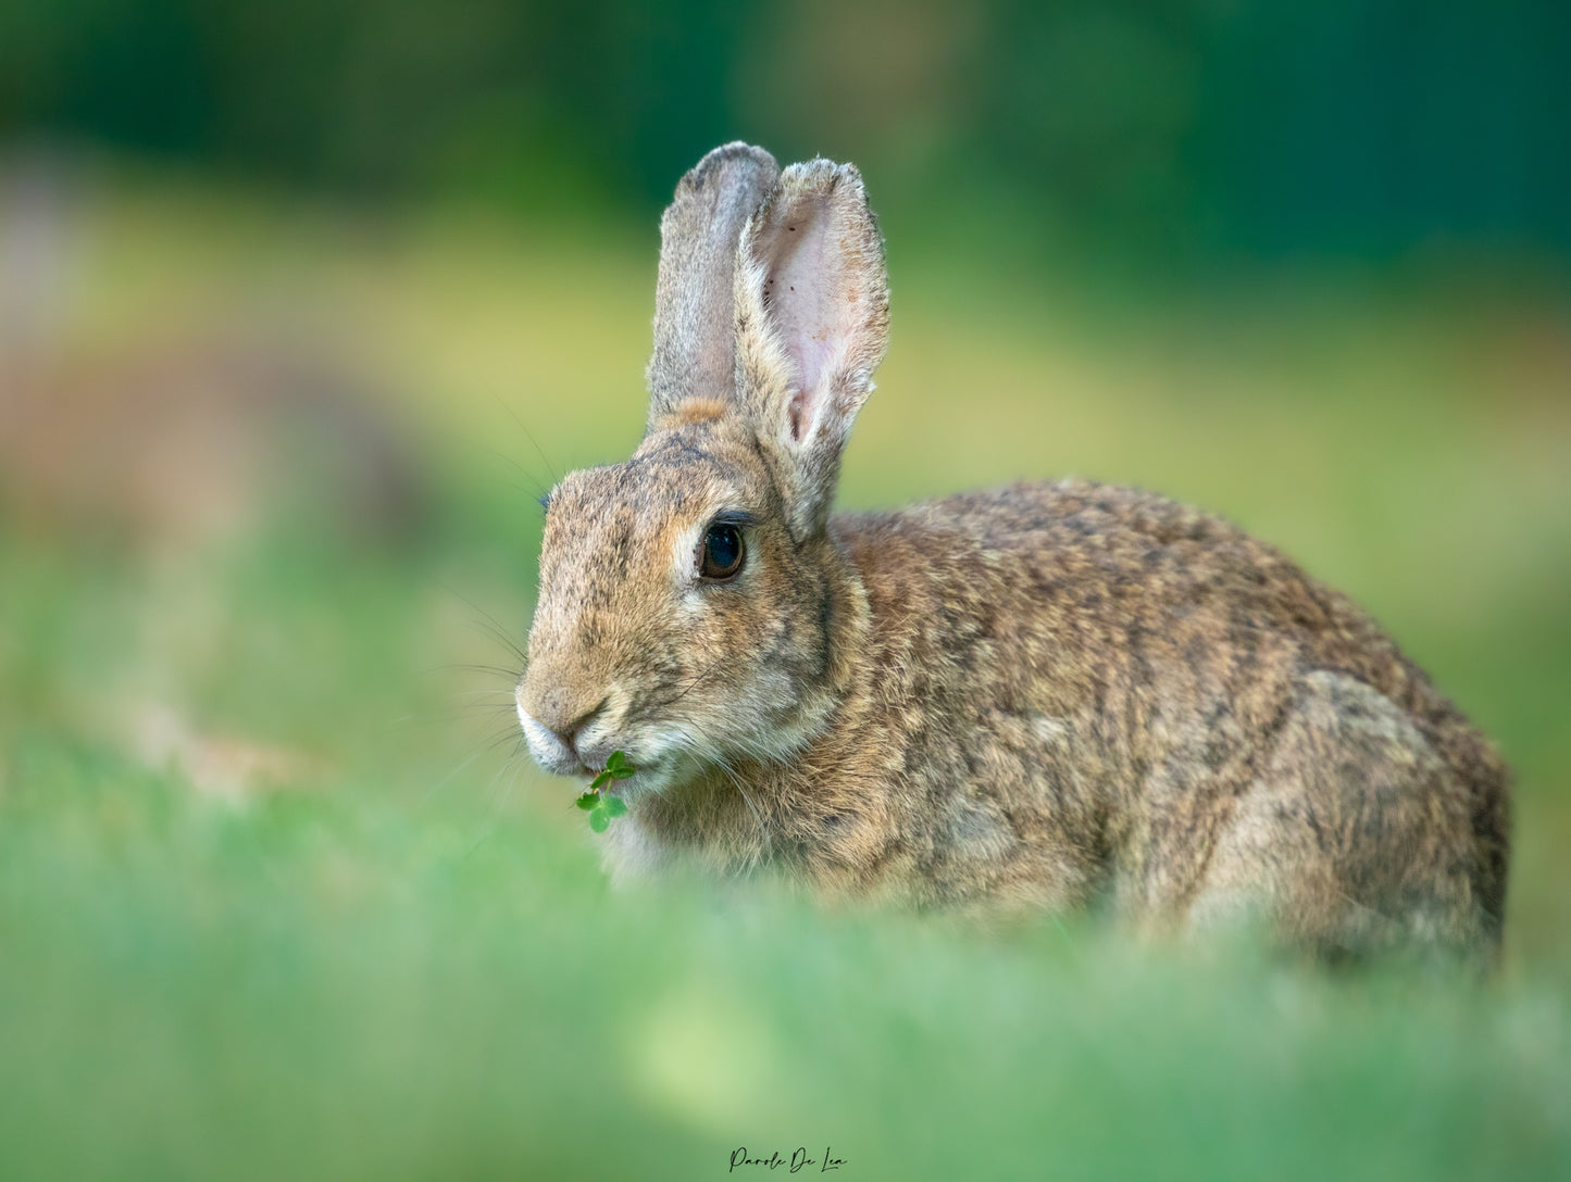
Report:
M742 141L699 160L660 220L649 424L687 399L735 391L737 239L779 176L775 157Z

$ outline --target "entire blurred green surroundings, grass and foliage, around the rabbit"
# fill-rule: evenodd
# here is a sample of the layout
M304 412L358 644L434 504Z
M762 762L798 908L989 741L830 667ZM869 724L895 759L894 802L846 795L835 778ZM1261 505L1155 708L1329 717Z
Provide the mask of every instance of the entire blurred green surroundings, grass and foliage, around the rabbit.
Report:
M1566 61L1552 0L0 0L0 1176L1568 1176ZM1518 769L1499 980L608 890L512 735L534 496L636 443L731 138L889 240L842 504L1142 483L1353 593Z

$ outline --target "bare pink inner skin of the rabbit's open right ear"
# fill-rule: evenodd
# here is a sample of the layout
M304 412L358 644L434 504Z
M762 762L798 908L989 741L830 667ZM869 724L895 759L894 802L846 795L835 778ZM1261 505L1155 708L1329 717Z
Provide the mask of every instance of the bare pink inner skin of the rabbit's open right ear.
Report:
M768 281L775 330L796 364L789 418L798 443L817 425L850 325L844 262L834 256L826 204L811 201L792 210L795 217L781 226Z

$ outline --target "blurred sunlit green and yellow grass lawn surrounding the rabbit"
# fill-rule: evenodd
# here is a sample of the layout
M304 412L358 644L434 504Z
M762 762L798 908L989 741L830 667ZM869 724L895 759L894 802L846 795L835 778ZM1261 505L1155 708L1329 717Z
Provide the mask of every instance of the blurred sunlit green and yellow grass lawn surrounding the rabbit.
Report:
M507 760L485 617L522 639L536 483L639 433L652 231L126 187L75 232L61 350L327 339L432 504L394 545L311 487L178 545L0 518L0 1176L685 1179L738 1146L840 1177L1571 1169L1563 306L1089 314L895 239L842 487L1139 482L1364 601L1519 771L1480 989L608 892L570 790Z

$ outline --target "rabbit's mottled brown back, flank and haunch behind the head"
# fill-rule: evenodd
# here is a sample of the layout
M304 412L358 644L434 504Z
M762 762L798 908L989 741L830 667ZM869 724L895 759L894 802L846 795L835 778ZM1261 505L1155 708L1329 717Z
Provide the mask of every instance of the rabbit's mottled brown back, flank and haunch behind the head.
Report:
M943 802L895 810L922 818L895 845L933 901L1112 893L1197 920L1265 903L1331 943L1397 909L1453 942L1497 934L1503 763L1271 546L1086 482L834 531L873 620L869 724L903 791ZM1346 895L1370 915L1342 914Z

